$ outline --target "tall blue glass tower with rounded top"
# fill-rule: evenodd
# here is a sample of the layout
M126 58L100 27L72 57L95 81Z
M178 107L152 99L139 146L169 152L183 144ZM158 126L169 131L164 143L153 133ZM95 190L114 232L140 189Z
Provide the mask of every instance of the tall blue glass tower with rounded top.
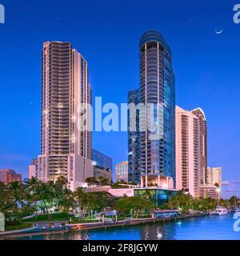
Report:
M155 106L162 104L162 118L155 122L162 134L160 139L150 139L151 132L147 129L150 118L148 111L145 117L137 113L136 119L143 120L138 132L129 129L129 181L140 182L144 176L148 186L150 178L160 176L173 178L175 181L175 78L172 69L172 55L170 47L158 31L149 30L142 34L139 46L140 53L140 85L139 90L130 91L129 103L154 104L154 122L156 118ZM131 117L129 114L128 123ZM130 126L129 126L130 127ZM160 182L158 182L160 183Z

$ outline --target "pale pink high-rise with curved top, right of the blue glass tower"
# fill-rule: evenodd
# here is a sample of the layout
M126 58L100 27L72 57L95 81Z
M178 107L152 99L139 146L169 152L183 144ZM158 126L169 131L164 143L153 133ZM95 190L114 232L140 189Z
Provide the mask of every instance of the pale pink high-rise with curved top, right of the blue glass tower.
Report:
M200 196L206 185L206 118L203 111L176 106L176 188Z

